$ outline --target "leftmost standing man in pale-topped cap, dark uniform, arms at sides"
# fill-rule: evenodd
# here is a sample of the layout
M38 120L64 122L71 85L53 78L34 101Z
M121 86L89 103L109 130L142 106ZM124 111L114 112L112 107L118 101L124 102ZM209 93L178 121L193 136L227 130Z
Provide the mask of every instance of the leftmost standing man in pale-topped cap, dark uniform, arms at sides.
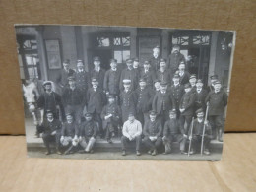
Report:
M44 93L41 94L37 100L37 106L41 113L41 122L47 110L53 113L54 118L59 118L59 110L62 120L65 120L65 111L62 104L61 96L52 91L52 82L45 81L43 83Z

